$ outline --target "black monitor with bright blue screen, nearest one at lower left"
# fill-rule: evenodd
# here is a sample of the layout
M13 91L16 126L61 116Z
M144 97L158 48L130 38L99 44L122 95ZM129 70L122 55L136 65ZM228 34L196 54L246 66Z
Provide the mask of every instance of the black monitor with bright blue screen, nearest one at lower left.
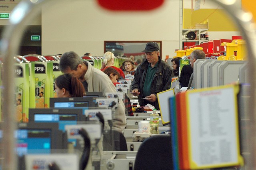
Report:
M0 126L3 126L3 123ZM52 149L61 149L63 133L58 127L58 123L18 123L18 129L14 133L18 156L29 153L50 153ZM0 130L0 139L2 139L2 130Z

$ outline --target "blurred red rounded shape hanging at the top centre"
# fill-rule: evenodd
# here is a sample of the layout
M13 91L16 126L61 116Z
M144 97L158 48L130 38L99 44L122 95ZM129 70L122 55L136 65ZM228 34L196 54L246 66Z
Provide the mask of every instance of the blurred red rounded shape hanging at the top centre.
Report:
M164 0L97 0L103 8L113 11L145 11L156 9Z

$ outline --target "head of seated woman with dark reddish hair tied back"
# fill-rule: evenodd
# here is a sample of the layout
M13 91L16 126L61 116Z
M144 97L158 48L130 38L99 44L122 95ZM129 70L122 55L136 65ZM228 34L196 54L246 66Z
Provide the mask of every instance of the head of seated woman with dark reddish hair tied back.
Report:
M58 97L83 97L84 85L76 77L64 73L55 79L55 91Z

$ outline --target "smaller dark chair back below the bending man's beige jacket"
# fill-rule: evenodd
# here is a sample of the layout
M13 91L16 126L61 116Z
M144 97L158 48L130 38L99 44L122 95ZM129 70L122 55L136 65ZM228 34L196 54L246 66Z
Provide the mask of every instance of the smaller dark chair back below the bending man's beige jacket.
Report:
M127 143L124 134L117 130L104 130L103 132L104 151L127 151Z

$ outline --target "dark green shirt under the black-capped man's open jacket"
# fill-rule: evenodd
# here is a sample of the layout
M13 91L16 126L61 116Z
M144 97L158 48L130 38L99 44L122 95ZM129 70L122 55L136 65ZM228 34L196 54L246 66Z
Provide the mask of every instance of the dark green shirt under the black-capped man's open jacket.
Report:
M154 75L156 74L156 70L158 67L158 62L154 67L151 67L151 63L148 63L148 70L146 73L146 78L144 81L144 86L143 86L143 97L151 95L151 83L153 81Z

